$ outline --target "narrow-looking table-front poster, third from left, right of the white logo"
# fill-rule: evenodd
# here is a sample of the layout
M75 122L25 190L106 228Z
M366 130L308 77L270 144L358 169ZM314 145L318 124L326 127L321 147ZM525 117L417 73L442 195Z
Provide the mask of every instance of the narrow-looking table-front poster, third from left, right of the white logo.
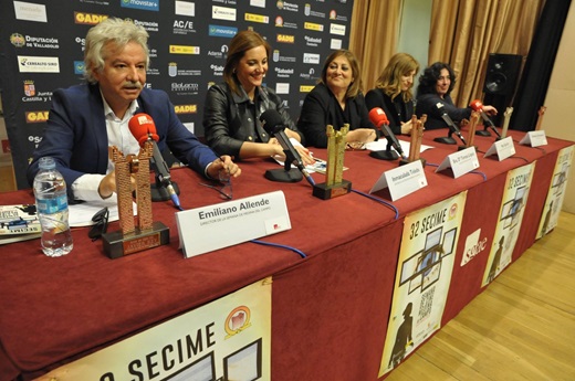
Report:
M498 225L481 283L482 287L490 284L511 263L534 171L535 162L532 162L508 172Z

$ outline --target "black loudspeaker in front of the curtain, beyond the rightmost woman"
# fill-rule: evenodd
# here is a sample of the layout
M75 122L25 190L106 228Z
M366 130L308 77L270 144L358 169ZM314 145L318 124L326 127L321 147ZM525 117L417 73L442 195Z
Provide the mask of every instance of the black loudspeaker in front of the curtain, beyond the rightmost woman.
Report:
M483 92L512 95L518 84L522 62L522 55L491 53Z

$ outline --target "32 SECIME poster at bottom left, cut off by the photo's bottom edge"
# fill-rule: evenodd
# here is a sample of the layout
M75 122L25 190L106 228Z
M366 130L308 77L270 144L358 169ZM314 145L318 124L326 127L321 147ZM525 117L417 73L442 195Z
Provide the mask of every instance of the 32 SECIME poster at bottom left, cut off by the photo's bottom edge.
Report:
M38 380L270 380L271 295L268 277Z

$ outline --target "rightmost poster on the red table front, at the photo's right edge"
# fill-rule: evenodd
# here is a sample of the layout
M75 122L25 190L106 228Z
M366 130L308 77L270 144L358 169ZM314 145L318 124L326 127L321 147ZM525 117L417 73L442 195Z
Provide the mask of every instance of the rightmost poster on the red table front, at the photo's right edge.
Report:
M573 162L574 146L563 148L557 155L557 162L553 170L550 190L545 199L542 219L537 230L536 240L551 232L557 226L563 199L565 198L565 189L569 178L571 163Z

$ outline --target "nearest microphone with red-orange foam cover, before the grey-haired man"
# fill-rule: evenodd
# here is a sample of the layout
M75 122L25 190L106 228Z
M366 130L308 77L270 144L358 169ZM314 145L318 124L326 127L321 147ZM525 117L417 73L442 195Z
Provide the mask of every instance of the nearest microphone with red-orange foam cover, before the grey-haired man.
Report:
M176 190L174 189L174 184L170 180L169 168L161 152L159 151L158 145L156 141L159 140L159 136L156 134L156 125L154 124L154 119L148 114L139 113L134 115L128 121L129 131L138 144L144 147L146 141L151 141L151 147L154 148L151 161L154 162L156 177L159 183L166 187L169 198L174 205L177 209L181 210L180 202Z

